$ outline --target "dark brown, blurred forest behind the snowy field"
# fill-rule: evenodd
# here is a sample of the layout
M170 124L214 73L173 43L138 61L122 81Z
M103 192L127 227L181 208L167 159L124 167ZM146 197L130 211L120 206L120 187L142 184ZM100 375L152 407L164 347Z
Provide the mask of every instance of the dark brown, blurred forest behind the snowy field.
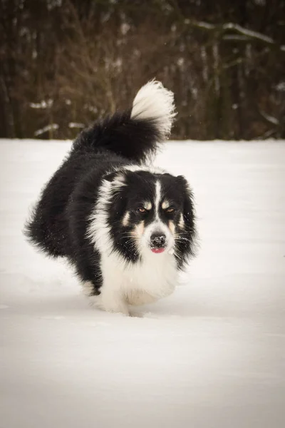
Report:
M172 138L285 138L285 0L0 0L0 136L73 138L157 78Z

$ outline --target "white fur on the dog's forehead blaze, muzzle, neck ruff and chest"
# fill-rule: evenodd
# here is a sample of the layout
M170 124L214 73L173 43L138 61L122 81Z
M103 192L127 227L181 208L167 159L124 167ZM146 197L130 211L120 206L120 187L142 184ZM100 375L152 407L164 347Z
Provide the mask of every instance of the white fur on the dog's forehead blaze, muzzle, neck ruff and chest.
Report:
M157 183L158 205L160 182ZM103 180L94 213L90 216L88 238L100 252L103 275L100 295L91 297L94 304L108 312L128 315L128 305L142 305L170 295L177 282L177 267L172 251L174 238L159 219L145 228L138 244L141 262L127 263L118 252L113 251L106 205L122 185L125 183L121 175L113 182ZM152 253L149 247L150 236L157 230L161 230L167 237L167 248L161 254ZM90 284L87 283L86 288L87 291L90 290Z

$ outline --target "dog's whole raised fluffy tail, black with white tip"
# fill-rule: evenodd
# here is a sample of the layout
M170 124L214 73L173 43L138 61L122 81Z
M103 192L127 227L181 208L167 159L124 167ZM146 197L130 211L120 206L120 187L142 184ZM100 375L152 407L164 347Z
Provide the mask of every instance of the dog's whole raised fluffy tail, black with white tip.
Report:
M131 161L145 161L170 135L175 114L173 93L162 83L150 81L140 88L130 110L115 113L83 131L73 150L104 148Z

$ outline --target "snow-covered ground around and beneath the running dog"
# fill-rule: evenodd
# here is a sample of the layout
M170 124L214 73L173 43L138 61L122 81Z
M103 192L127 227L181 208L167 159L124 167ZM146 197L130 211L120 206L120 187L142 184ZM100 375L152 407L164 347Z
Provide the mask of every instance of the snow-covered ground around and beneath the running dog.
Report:
M138 317L89 307L21 235L69 147L0 141L0 427L284 427L285 141L165 146L201 248Z

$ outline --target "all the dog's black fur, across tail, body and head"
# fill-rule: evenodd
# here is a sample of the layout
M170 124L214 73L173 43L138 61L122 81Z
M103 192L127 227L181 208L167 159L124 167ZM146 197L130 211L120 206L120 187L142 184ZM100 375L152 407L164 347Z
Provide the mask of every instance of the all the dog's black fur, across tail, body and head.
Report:
M90 242L87 231L103 176L113 180L116 173L112 170L144 162L147 156L155 153L161 138L155 121L130 118L130 111L115 113L95 123L76 138L71 152L43 189L31 220L26 223L25 234L31 243L51 257L67 258L76 267L81 280L92 282L93 295L100 294L103 278L100 253ZM131 232L137 214L132 211L130 226L123 228L121 222L125 210L140 200L140 190L142 198L145 198L147 189L150 198L153 197L155 175L145 171L123 171L123 174L127 185L113 195L106 208L108 222L114 250L128 262L139 263L138 250L125 238ZM180 234L185 239L177 240L175 253L177 267L182 268L192 255L195 236L192 193L182 177L163 174L161 178L165 193L172 193L177 206L183 206L185 228Z

